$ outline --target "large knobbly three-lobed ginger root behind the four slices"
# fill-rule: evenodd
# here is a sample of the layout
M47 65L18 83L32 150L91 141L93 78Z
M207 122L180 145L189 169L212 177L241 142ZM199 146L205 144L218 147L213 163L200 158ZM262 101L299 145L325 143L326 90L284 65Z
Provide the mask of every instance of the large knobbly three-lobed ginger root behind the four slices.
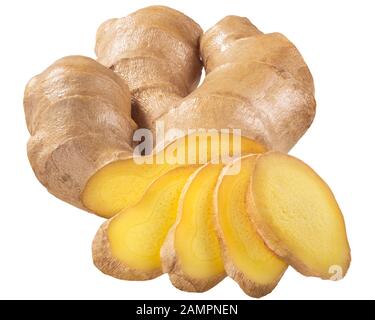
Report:
M208 76L194 90L200 38ZM184 14L152 6L105 22L96 53L114 73L89 58L64 58L29 82L25 113L38 179L60 199L103 217L135 205L176 167L133 161L133 119L151 130L161 120L172 131L164 141L172 146L151 158L175 148L172 129L241 129L240 154L288 150L313 119L312 78L297 49L244 18L224 18L202 36ZM130 87L132 111L115 73ZM177 149L187 158L194 148Z

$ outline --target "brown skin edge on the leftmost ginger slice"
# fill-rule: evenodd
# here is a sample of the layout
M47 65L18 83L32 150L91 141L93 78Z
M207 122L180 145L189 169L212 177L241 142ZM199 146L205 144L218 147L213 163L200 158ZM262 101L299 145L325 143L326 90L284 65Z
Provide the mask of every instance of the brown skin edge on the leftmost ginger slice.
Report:
M121 280L150 280L160 276L162 274L161 270L142 272L138 269L130 268L111 254L108 239L108 226L110 223L111 219L104 222L93 240L92 257L94 265L103 273Z

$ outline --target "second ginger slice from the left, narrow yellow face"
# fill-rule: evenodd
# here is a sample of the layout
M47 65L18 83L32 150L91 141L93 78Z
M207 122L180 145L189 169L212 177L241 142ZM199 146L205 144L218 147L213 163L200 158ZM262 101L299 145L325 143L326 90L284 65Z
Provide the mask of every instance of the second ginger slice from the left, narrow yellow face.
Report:
M162 246L163 271L180 290L203 292L225 277L213 216L213 191L222 167L208 163L189 178L177 221Z

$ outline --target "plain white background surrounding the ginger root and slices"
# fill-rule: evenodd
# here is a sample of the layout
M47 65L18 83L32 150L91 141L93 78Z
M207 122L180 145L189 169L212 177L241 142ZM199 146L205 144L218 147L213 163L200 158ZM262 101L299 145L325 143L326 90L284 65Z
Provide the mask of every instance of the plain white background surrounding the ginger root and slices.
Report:
M317 115L291 154L332 187L345 216L352 265L340 282L292 268L265 299L375 298L374 1L1 1L0 298L249 299L231 279L185 293L166 275L147 282L101 274L91 240L102 219L50 195L26 155L23 90L70 54L94 57L97 27L150 4L183 11L207 29L228 14L279 31L302 52L316 85Z

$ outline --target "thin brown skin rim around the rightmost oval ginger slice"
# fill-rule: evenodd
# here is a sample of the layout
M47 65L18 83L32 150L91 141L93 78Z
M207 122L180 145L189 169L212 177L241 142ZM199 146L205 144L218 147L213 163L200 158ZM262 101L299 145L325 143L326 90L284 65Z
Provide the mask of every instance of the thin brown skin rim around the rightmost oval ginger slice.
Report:
M269 153L271 153L271 152L269 152ZM292 156L289 156L289 157L292 157ZM301 160L299 160L295 157L292 157L292 158L301 162L301 163L303 163ZM329 189L329 186L327 185L327 183L322 178L320 178L320 176L317 173L315 173L315 175ZM253 195L252 195L251 184L249 186L249 190L248 190L248 193L247 193L247 204L248 204L248 208L249 208L248 212L249 212L250 219L254 223L254 226L255 226L257 232L262 237L262 239L264 240L264 242L266 243L268 248L270 248L277 256L282 258L287 264L291 265L295 270L297 270L302 275L304 275L306 277L317 277L317 278L320 278L322 280L330 280L331 275L324 276L321 273L317 273L314 270L312 270L309 266L307 266L305 263L303 263L300 259L297 259L290 252L290 250L284 245L284 243L281 242L275 236L274 232L266 224L257 223L254 215L251 214L251 212L257 210L256 206L255 206L255 203L254 203L254 198L253 198ZM345 233L346 233L346 230L345 230ZM347 244L348 244L348 247L349 247L349 242L347 242ZM348 260L346 261L346 264L342 268L342 270L343 270L342 277L345 277L345 275L346 275L346 273L349 269L350 262L351 262L351 254L350 254L350 250L349 250Z

